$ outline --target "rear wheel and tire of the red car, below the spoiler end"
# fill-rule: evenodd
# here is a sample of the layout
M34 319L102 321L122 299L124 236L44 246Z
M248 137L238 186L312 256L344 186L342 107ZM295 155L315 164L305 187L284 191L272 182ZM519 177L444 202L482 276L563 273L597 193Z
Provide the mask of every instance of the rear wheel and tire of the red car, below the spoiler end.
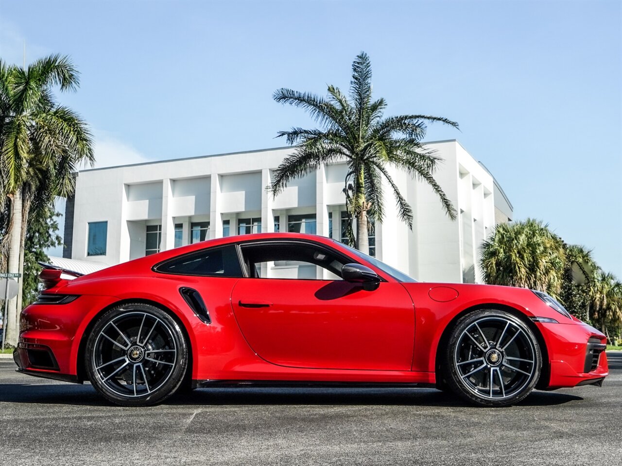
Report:
M188 345L162 309L129 303L106 311L86 342L86 374L107 400L121 406L161 403L182 386Z

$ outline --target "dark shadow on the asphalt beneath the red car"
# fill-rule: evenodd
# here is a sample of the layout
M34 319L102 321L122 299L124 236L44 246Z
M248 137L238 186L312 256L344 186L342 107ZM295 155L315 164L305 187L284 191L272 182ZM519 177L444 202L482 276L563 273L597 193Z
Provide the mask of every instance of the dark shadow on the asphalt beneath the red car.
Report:
M518 406L555 406L580 396L534 391ZM111 406L88 385L0 384L0 402ZM168 406L438 406L480 409L433 388L200 388L165 401Z

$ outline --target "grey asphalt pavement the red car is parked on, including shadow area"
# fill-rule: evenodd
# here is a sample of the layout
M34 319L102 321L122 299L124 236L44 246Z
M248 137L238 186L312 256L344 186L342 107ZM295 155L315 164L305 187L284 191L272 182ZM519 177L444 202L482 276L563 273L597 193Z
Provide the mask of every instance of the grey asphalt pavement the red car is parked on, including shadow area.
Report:
M622 352L601 388L475 408L432 389L195 390L151 408L0 360L0 465L621 465Z

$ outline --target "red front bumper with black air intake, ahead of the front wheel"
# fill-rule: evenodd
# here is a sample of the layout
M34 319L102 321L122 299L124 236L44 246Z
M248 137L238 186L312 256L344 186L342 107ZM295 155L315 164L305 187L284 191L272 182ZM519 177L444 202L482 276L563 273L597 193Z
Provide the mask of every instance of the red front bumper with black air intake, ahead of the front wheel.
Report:
M549 353L548 390L598 385L609 375L605 336L587 324L537 324Z

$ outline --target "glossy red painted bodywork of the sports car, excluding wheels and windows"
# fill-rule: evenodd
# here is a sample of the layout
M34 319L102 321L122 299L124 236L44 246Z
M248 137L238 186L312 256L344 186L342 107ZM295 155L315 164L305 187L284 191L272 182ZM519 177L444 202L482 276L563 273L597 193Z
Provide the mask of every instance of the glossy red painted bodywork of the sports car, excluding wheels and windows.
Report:
M188 252L271 239L317 242L366 265L383 281L377 290L364 291L344 281L166 275L152 270ZM183 287L200 293L211 323L198 318L184 301L179 292ZM132 301L156 304L177 319L190 344L195 380L434 383L443 336L461 315L481 308L510 310L539 334L550 374L541 386L575 386L608 373L605 355L595 370L583 372L588 339L604 341L603 334L562 316L529 290L401 283L340 243L315 235L210 240L62 280L45 292L79 298L68 304L31 304L22 312L16 358L24 372L42 377L81 381L90 325L111 306ZM560 323L534 324L534 317ZM30 367L24 348L28 344L49 347L58 370Z

